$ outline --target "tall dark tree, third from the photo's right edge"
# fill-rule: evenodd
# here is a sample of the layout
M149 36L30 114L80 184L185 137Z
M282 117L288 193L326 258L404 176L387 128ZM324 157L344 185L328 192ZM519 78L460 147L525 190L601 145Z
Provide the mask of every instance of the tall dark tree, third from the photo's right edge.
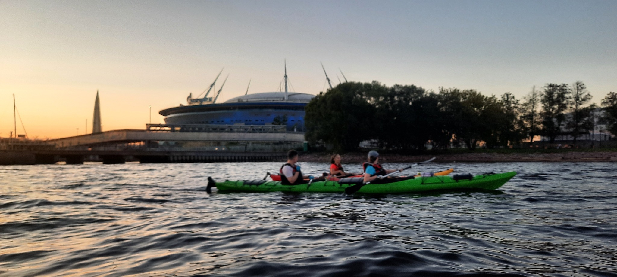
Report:
M540 97L542 103L542 134L547 135L550 143L562 134L568 109L570 89L567 84L546 84Z

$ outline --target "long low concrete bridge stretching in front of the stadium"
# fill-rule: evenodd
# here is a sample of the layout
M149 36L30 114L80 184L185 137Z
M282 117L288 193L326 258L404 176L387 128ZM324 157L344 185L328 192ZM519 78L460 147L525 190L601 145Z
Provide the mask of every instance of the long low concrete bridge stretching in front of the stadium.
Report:
M147 124L146 130L77 135L36 147L27 142L12 139L0 145L0 164L280 161L287 150L304 147L304 132L286 126Z

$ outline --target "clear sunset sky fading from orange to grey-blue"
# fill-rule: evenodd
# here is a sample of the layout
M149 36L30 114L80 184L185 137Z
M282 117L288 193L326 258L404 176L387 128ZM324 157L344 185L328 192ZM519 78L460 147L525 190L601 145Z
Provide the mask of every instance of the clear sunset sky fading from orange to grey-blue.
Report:
M201 94L217 102L342 80L476 89L517 98L583 81L617 91L617 1L0 0L0 137L144 129ZM340 70L339 70L340 69ZM149 108L151 106L152 108ZM87 122L86 122L87 121ZM87 125L86 125L87 124ZM87 126L87 129L86 129Z

